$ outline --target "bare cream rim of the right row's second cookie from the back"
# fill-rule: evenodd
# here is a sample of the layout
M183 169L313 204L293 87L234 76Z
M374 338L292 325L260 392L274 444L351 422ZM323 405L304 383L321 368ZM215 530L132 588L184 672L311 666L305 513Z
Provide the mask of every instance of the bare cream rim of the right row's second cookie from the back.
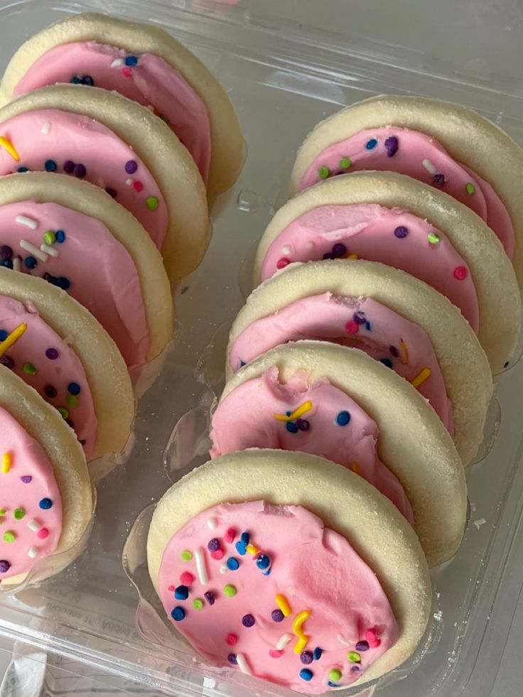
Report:
M444 235L447 251L457 253L464 259L468 271L466 267L458 267L464 269L464 274L455 278L451 275L449 283L457 284L458 293L462 287L459 286L460 283L467 284L470 279L473 281L472 291L475 289L479 310L478 337L487 354L492 372L500 372L512 358L520 328L521 299L512 264L503 252L500 241L475 213L443 192L404 175L391 172L357 172L343 175L313 186L289 200L276 213L259 242L254 264L254 286L261 280L260 274L267 254L270 252L274 256L271 245L276 239L279 244L281 232L293 222L311 211L328 211L331 206L357 206L360 210L362 207L363 210L367 210L368 205L377 205L380 215L384 211L387 216L397 217L402 212L408 212L421 226L426 225L428 221L428 227L433 226L438 230L439 234L435 240ZM342 226L338 232L343 233L343 229ZM311 230L316 237L321 237L321 229ZM390 237L392 244L409 245L410 237L413 237L414 241L414 235L405 235L402 229L401 234L396 234L396 230L391 227L389 233L383 232L383 237L387 235L387 240ZM423 232L424 227L420 230ZM334 237L328 233L326 239L330 240L329 247L333 247L333 239L335 242L341 241L342 236L338 232L335 231ZM419 237L416 241L416 258L421 252L428 254L428 261L420 266L420 275L421 272L431 274L431 269L437 268L434 262L430 263L430 259L434 249L438 248L438 242L433 244L429 236L430 232L426 237ZM357 237L355 234L354 239ZM423 244L420 242L421 239ZM448 242L453 249L449 248ZM383 249L375 245L374 250L377 256L385 256L374 261L389 261L390 254L384 255ZM311 252L303 252L301 256L304 255L306 259L295 259L288 255L287 261L318 258L314 249ZM458 268L455 271L458 271ZM443 279L440 279L440 282L443 284L442 288L446 286Z

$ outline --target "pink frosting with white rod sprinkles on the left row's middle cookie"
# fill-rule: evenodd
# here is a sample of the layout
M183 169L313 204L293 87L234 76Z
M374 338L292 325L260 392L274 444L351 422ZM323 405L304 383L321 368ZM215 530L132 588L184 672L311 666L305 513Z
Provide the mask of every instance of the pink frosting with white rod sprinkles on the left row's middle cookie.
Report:
M50 245L58 256L41 261L21 247L25 240L40 250L43 235L58 230L64 241ZM12 253L11 262L21 257L24 273L62 283L112 336L129 368L146 362L151 342L139 275L129 252L102 222L56 203L10 203L0 207L0 256L2 246L8 247L4 256Z

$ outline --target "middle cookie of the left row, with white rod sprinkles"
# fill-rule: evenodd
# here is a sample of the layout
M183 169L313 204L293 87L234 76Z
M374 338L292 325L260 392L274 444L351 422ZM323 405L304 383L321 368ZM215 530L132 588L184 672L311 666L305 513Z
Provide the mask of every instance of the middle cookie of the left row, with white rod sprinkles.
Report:
M42 172L0 178L0 256L11 249L10 266L18 256L25 273L55 284L65 279L62 287L104 325L130 368L153 360L174 323L161 255L139 222L98 187L60 174L52 184ZM43 262L27 243L40 249L49 234L54 256L44 254Z

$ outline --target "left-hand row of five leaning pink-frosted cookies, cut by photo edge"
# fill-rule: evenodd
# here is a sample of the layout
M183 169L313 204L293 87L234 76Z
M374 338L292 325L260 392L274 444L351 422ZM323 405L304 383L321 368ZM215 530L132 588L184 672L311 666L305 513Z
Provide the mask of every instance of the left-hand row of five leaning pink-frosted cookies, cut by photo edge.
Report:
M195 56L96 14L29 39L0 102L4 587L55 573L85 538L92 482L131 437L137 381L171 341L173 289L243 142Z

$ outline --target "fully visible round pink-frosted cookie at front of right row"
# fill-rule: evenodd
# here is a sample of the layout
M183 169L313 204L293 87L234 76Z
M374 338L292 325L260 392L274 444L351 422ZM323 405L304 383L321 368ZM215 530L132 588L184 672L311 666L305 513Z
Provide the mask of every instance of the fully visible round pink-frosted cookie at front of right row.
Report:
M263 516L262 524L257 526L259 518L253 514L250 519L242 518L241 523L235 526L236 529L229 528L224 534L222 519L227 511L232 514L236 511L253 512L254 504L245 502L261 502L259 509ZM234 504L239 505L234 506ZM277 515L278 512L284 513L285 517L276 532L271 515ZM304 517L309 522L311 514L315 517L315 523L311 523L311 527L300 526L299 540L296 544L292 545L290 542L286 544L284 530L289 529L293 518L299 525ZM212 518L209 518L210 515ZM200 555L203 557L203 563L209 575L208 589L211 595L216 595L216 598L212 598L215 600L214 607L208 608L209 596L205 595L202 610L196 611L195 618L193 597L200 590L196 581L196 578L200 580L199 573L195 569L194 561L183 561L183 558L188 558L187 554L180 559L179 553L174 556L167 550L171 551L173 544L176 546L176 534L180 534L179 544L185 545L185 551L189 551L190 556L193 556L193 553L198 554L198 551L194 549L194 544L198 544L199 538L198 528L193 526L196 517L203 520L205 527L200 532L205 542L207 539L217 538L219 547L221 546L227 554L232 553L232 558L237 560L239 568L233 571L230 566L227 566L226 573L222 575L218 569L223 562L217 561L216 553L214 557L212 552L208 553L208 546L207 549L202 546ZM370 519L372 524L369 524ZM189 524L190 527L185 528ZM317 534L311 531L313 525L318 525ZM184 528L187 530L185 535L183 535ZM215 530L214 533L212 529ZM254 558L249 557L251 552L256 553L256 551L249 547L247 547L247 554L242 554L245 551L242 546L244 547L247 542L245 531L250 538L249 541L252 540L254 546L262 549L261 556L270 556L269 576L263 575L266 558L259 563L255 562ZM305 549L311 550L305 557L303 557L301 544L303 538L306 538L310 544ZM325 539L323 544L322 539ZM332 541L332 546L329 546L327 540ZM360 560L368 565L367 570L373 572L373 583L376 579L379 581L398 625L397 642L384 652L387 625L382 625L383 634L379 639L372 627L369 634L367 634L368 630L365 631L367 627L359 627L359 632L367 636L369 649L373 647L383 652L374 662L372 662L372 650L367 652L365 636L358 637L358 629L355 629L349 620L351 610L356 610L362 625L368 620L367 610L363 607L367 595L363 598L362 593L356 594L356 597L360 598L360 601L356 600L356 605L360 606L355 608L352 606L352 598L349 599L350 588L355 590L358 588L355 577L352 576L352 583L347 578L347 584L342 584L342 588L347 590L341 593L339 584L336 588L331 588L329 581L329 578L338 579L338 573L345 577L345 569L342 569L342 565L350 554L345 541ZM331 571L326 575L322 573L323 566L320 565L319 560L318 565L314 561L318 543L323 549L335 549L340 555L340 558L337 557L338 561L333 561ZM262 545L266 547L262 548ZM282 545L284 549L281 549ZM323 693L330 687L336 686L335 681L346 685L347 682L352 683L359 678L357 684L364 684L387 673L411 656L428 622L431 607L430 580L426 561L414 531L394 506L361 477L341 468L340 465L313 455L285 453L281 450L247 450L243 453L227 455L193 470L171 487L158 503L149 529L147 556L153 585L158 595L164 600L167 612L173 610L173 605L181 607L184 614L186 613L184 621L193 622L200 620L200 617L205 621L210 611L215 612L213 617L217 616L217 613L221 612L220 605L230 608L227 610L228 616L224 625L221 623L217 625L213 620L212 625L207 623L205 634L202 632L202 635L198 637L202 642L205 641L205 635L217 635L217 641L213 647L214 654L205 652L207 659L214 663L227 664L227 654L232 654L242 671L252 671L265 679L293 686L294 689L303 692ZM225 560L226 557L223 556L223 561ZM180 571L185 572L186 569L188 571L190 569L190 576L194 580L193 585L188 588L190 593L188 600L184 603L173 597L173 593L166 590L164 586L168 583L178 586L180 583L178 574ZM236 578L239 580L235 581ZM251 578L251 583L247 585L244 578ZM182 580L186 580L185 574ZM235 583L238 583L237 588ZM225 588L226 584L232 585L232 590L223 591L222 588ZM366 588L368 588L366 593L368 593L369 603L372 603L371 585ZM178 591L178 598L179 590L182 588L175 590L175 593ZM234 590L237 590L236 594ZM244 590L247 590L247 596ZM213 591L217 593L212 593ZM266 598L267 593L269 598ZM278 594L279 597L275 598ZM204 598L203 595L202 598ZM278 605L276 601L279 601ZM237 615L241 616L240 608L249 602L252 606L252 615L250 617L244 615L240 624L240 617ZM279 610L279 607L283 610ZM302 607L307 607L309 610L308 615L307 613L305 615L304 623L304 616L300 612ZM201 614L198 615L198 612ZM285 613L289 619L284 619ZM295 613L298 614L295 615ZM324 629L330 632L330 639L320 634L325 616L329 619L328 626ZM176 625L176 630L183 634L183 621L177 622L175 617L176 615L173 617L175 620L173 624ZM351 619L354 621L353 616ZM303 642L298 644L294 634L289 635L290 639L286 639L282 634L293 632L291 621L293 625L296 622L294 625L296 637L300 634L299 627L303 628L303 633L306 635L306 651L302 654L299 650L303 647ZM342 628L340 624L343 625ZM265 649L259 650L258 653L246 651L242 654L244 660L241 661L239 654L245 650L244 647L247 646L245 642L250 644L253 639L255 641L256 637L262 634L264 634ZM280 634L282 634L281 637ZM234 642L234 637L237 637L237 642ZM278 637L280 639L276 644ZM350 642L357 643L358 638L363 639L358 649L360 652L367 653L365 656L363 653L359 657L354 654L349 656L347 652L351 649ZM193 635L193 644L194 639ZM321 644L318 639L322 642ZM285 647L285 640L287 642L292 640L292 643ZM379 647L379 642L382 640L384 646ZM266 649L273 641L275 649L280 647L283 650L276 649L273 654L269 652L267 655ZM320 647L319 652L315 647ZM352 648L354 647L355 644ZM323 661L322 648L328 649L323 654ZM298 649L297 653L296 649ZM316 651L314 655L313 649ZM330 674L331 670L338 667L337 662L332 664L332 661L340 659L340 649L343 662L339 663L338 673ZM311 656L308 656L308 653ZM274 660L276 657L278 657L277 661ZM352 671L353 664L347 661L357 661L358 658L361 661L359 666L363 670L361 674L358 671L356 675L357 668ZM260 661L262 667L257 670ZM229 664L231 663L234 664L234 661L229 660ZM289 681L288 675L282 674L286 670L284 665L291 666L292 682ZM303 670L310 671L312 675L307 672L303 674Z

